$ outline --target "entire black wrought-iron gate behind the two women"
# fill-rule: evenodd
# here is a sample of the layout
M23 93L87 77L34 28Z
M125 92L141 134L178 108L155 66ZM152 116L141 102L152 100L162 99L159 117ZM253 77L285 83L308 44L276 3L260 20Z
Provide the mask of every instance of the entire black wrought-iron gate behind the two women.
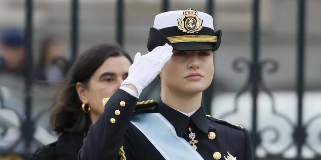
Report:
M307 121L307 123L303 123L303 95L305 91L305 81L304 81L304 62L305 62L305 36L306 36L306 0L297 0L298 3L298 22L297 22L297 68L296 68L296 93L297 93L297 101L298 106L297 108L297 122L293 123L287 115L283 115L275 109L275 105L273 104L273 114L275 116L282 117L284 120L288 122L288 124L292 127L292 143L286 147L284 150L280 150L277 154L269 153L266 155L266 157L260 157L257 159L285 159L282 155L284 151L286 151L288 148L292 146L296 146L297 148L297 157L294 159L304 159L302 157L302 148L304 145L306 145L309 149L311 149L315 154L317 155L314 159L321 159L321 155L315 150L315 148L311 147L310 144L308 144L307 136L307 128L311 123L313 123L315 120L321 117L321 113L317 114L317 116L312 117L310 120ZM239 92L236 93L237 100L239 96L244 94L246 91L251 92L251 98L252 98L252 113L251 113L251 136L253 141L253 151L256 152L257 147L262 143L262 133L265 132L264 130L258 130L258 119L257 116L258 109L260 109L258 106L258 93L259 92L265 92L269 95L272 102L274 102L274 97L271 91L265 86L263 82L262 77L262 69L265 65L269 64L272 65L272 69L270 70L271 73L276 72L278 68L278 63L276 60L273 59L265 59L260 60L260 0L253 0L253 6L252 6L252 16L253 16L253 24L252 24L252 54L251 54L251 60L247 60L245 58L239 58L236 59L233 63L233 67L236 71L239 71L240 68L238 68L238 65L240 63L244 63L247 65L249 69L249 74L247 78L247 82L245 83L245 86L243 86ZM214 0L207 0L206 8L209 14L213 15L214 11ZM79 17L79 4L78 0L71 0L71 57L72 61L74 61L77 57L78 53L78 17ZM165 12L169 10L169 0L162 0L161 5L161 12ZM21 137L16 140L13 144L10 145L8 148L0 148L0 159L19 159L19 157L22 157L23 159L29 159L31 153L33 150L30 150L30 145L34 141L33 134L35 132L35 124L39 120L39 117L44 114L44 112L39 113L35 117L31 117L31 106L32 106L32 66L33 66L33 0L25 0L25 36L26 36L26 43L25 43L25 49L26 49L26 55L27 55L27 67L25 70L25 108L24 108L24 115L19 117L20 123L21 123ZM117 0L117 14L116 14L116 33L117 37L116 41L119 44L123 44L123 37L124 37L124 0ZM157 82L152 83L151 85L158 85ZM153 87L151 87L153 88ZM213 99L213 93L214 93L214 83L210 85L210 87L204 91L204 97L203 97L203 104L204 106L207 106L206 112L211 113L211 103ZM152 92L152 91L151 91ZM1 97L1 96L0 96ZM3 104L3 99L1 97L0 99L1 104ZM321 100L320 100L321 102ZM6 106L1 105L2 108L6 108ZM10 109L10 108L7 108ZM235 109L232 112L227 112L226 114L222 115L221 117L226 117L232 114L235 114L237 112L238 106L235 105ZM221 118L220 117L220 118ZM0 132L0 137L3 136L8 129L8 126L5 126L5 124L0 125L0 128L2 128L2 132ZM275 132L281 132L277 131ZM321 141L321 133L319 134L319 140ZM13 150L17 147L17 145L20 142L24 142L23 146L23 152L15 153Z

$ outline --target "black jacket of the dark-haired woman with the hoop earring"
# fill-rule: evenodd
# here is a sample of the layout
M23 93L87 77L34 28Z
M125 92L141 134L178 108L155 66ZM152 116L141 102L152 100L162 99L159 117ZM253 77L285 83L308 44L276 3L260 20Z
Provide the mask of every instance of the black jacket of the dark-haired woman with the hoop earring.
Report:
M58 140L38 148L30 160L77 160L83 132L65 132Z

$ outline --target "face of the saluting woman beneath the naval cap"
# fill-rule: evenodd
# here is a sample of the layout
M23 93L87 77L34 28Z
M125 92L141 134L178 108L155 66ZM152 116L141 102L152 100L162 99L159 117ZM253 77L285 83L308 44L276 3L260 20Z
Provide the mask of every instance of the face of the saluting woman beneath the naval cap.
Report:
M212 51L173 51L161 70L161 87L177 93L199 93L208 88L213 75Z

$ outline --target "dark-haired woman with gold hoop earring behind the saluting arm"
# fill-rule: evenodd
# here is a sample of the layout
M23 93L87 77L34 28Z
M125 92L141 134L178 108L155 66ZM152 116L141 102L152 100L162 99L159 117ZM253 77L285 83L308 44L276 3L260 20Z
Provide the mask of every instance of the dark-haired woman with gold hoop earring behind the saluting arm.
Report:
M128 76L130 56L118 45L100 44L82 53L68 72L50 116L56 142L38 148L31 160L76 160L89 126L104 111L103 98Z

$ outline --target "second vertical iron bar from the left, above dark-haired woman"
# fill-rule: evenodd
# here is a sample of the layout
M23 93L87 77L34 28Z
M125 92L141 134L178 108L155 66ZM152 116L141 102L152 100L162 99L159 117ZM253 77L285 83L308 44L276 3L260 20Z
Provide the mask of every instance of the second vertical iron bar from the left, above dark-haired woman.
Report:
M71 2L71 61L77 59L78 54L78 26L79 26L79 3L78 0Z

